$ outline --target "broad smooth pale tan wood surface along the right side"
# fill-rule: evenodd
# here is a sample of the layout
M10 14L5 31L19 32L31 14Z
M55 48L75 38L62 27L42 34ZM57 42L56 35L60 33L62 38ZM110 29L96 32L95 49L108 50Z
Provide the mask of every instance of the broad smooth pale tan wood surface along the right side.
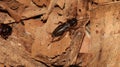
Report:
M120 67L119 6L119 2L112 3L91 11L92 57L88 67Z

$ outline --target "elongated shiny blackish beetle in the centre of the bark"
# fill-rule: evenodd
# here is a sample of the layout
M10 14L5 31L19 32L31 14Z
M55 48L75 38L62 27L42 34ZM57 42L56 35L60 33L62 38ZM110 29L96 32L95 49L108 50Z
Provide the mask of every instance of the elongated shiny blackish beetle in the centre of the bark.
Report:
M67 22L65 22L65 23L61 23L52 32L51 36L52 36L53 39L52 39L51 42L59 41L62 38L62 36L64 35L65 32L70 31L76 25L77 25L77 19L76 18L72 18L72 19L67 20ZM59 38L54 40L55 37L59 37Z

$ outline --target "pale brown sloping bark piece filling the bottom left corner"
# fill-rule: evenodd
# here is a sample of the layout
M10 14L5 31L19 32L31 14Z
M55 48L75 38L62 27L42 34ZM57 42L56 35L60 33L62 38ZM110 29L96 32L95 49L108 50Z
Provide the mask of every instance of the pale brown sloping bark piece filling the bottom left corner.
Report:
M17 44L18 43L12 41L0 44L0 63L12 66L24 65L26 67L44 67L41 63L33 60L30 57L30 54L26 52L23 48L20 48L20 46Z

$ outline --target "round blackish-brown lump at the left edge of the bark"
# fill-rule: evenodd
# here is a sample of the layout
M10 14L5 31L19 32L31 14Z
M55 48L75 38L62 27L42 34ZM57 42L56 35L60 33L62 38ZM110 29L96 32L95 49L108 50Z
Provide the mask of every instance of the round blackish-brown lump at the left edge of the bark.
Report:
M12 33L12 27L8 24L0 24L0 35L2 38L7 39L9 35Z

